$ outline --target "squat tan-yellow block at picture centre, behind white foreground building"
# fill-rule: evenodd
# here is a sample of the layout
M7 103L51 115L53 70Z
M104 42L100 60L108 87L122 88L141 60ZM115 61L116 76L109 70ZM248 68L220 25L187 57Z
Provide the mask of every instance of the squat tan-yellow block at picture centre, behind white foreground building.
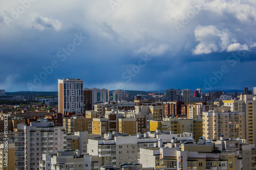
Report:
M119 133L127 133L127 135L135 135L138 133L138 123L136 118L118 118Z

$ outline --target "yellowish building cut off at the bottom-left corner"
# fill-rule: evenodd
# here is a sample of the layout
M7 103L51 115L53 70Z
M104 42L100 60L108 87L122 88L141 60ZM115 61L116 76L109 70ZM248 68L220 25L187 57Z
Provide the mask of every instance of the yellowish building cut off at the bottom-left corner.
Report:
M3 169L3 170L15 169L15 163L13 163L13 160L15 160L15 143L13 143L10 140L8 142L1 141L0 169Z

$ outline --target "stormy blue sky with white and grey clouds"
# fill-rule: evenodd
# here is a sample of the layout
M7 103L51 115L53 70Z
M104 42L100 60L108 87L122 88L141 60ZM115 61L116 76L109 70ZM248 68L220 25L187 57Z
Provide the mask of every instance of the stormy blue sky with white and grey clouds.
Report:
M0 1L0 89L256 86L256 1Z

